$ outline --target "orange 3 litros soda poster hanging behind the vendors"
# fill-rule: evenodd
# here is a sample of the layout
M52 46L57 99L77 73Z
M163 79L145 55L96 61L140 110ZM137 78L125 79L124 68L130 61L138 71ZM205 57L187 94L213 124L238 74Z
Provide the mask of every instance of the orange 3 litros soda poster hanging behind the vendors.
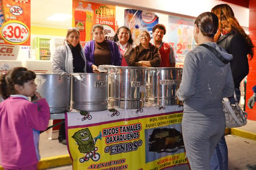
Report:
M80 42L92 40L92 27L101 24L104 27L105 38L112 40L115 32L116 7L95 2L73 0L73 27L80 30Z

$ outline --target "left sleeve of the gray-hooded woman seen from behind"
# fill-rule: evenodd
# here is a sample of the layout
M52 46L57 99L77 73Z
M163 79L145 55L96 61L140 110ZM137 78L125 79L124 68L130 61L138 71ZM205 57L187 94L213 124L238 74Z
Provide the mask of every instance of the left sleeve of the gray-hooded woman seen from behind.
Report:
M196 78L198 77L198 63L193 53L186 55L180 88L177 91L177 96L180 101L190 99L196 93Z

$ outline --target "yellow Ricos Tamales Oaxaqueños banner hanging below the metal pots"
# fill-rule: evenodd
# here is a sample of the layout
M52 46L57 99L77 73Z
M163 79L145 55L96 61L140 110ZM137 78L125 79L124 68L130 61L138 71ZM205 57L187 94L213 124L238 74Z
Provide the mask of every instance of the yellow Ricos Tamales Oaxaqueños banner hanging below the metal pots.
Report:
M188 169L182 107L68 112L73 169Z

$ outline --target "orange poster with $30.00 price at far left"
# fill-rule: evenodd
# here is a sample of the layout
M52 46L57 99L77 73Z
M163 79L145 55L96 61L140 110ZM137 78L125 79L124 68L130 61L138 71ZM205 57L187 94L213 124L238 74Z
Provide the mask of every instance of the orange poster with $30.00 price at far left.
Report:
M0 45L30 46L30 0L0 0Z

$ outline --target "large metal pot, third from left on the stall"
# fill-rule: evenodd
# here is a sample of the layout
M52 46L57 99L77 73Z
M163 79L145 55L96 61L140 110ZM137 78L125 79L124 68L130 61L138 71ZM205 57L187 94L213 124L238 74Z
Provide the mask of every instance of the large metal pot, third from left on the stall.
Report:
M145 103L145 67L109 67L109 107L138 109Z

